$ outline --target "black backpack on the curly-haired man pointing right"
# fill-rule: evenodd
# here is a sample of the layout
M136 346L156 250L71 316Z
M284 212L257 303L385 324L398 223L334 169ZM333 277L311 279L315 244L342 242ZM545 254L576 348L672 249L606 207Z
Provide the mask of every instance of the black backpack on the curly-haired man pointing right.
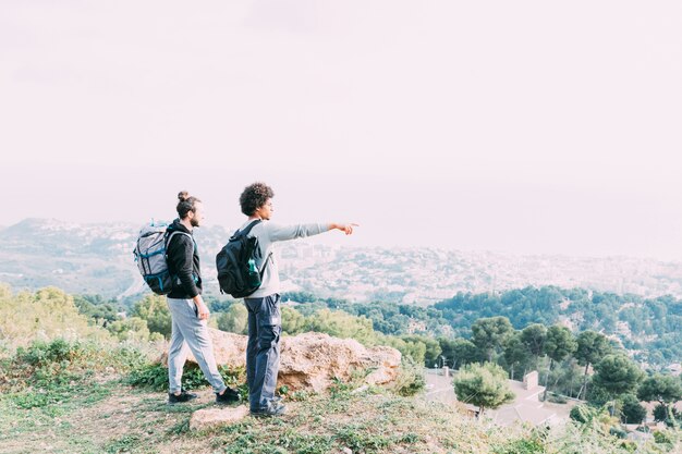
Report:
M218 284L221 293L229 293L234 298L243 298L260 287L263 273L272 253L263 263L263 269L256 269L256 261L260 259L258 238L247 237L248 232L260 223L260 220L252 222L246 229L236 231L216 256L218 269Z

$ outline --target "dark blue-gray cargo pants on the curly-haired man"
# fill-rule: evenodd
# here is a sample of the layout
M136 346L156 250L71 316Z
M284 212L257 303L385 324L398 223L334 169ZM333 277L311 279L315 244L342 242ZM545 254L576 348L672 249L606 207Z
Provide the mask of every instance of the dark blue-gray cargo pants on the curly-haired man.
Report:
M268 407L275 397L279 371L279 340L282 331L279 294L244 298L248 310L246 383L252 410Z

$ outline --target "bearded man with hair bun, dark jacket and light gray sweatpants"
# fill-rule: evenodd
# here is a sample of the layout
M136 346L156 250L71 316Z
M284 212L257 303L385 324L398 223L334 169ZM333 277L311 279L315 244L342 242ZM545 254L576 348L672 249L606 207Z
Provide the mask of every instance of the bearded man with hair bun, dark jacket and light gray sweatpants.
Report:
M208 334L208 307L202 298L202 270L199 255L193 236L204 219L202 200L186 192L178 194L178 216L167 229L168 269L173 277L173 290L168 294L172 317L171 342L168 347L169 404L188 402L196 394L182 388L182 369L192 352L204 376L214 388L219 404L239 401L239 393L228 388L216 365L214 345ZM173 232L176 232L172 237Z

